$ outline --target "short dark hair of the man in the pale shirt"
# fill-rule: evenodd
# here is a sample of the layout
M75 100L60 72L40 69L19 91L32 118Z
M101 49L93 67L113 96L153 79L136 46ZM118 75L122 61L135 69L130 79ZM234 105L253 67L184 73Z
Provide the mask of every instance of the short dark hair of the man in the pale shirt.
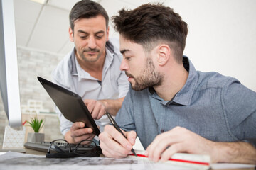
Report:
M90 0L78 1L70 11L70 28L74 31L74 22L80 18L93 18L102 15L108 27L109 17L107 11L97 2Z

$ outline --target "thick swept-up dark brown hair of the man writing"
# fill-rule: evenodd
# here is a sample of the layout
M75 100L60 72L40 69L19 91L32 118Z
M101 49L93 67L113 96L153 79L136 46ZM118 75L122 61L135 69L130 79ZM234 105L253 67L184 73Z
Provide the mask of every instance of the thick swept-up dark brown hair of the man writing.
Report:
M177 62L182 62L188 26L173 9L162 4L144 4L134 10L122 8L112 21L115 30L127 40L141 44L149 52L165 42Z

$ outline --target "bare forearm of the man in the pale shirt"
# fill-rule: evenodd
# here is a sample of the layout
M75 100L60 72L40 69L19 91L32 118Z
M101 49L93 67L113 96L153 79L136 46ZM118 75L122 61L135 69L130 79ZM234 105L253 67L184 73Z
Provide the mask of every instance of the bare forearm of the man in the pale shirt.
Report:
M119 99L106 99L106 100L100 100L105 106L106 106L106 111L110 113L110 115L117 115L117 112L122 106L122 102L124 101L123 98Z

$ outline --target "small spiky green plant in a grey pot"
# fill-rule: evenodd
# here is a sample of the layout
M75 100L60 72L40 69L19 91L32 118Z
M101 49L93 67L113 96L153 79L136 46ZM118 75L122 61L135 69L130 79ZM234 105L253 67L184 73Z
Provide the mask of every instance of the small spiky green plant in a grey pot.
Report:
M43 118L39 120L36 116L35 118L31 118L31 121L27 121L27 123L34 131L34 133L28 133L27 142L43 142L44 134L40 133L44 125Z

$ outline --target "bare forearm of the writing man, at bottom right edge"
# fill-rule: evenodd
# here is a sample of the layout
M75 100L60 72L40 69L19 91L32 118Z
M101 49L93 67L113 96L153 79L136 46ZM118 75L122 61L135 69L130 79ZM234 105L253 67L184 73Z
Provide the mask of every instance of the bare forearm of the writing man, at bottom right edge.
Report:
M247 142L216 142L217 162L256 164L256 148Z

